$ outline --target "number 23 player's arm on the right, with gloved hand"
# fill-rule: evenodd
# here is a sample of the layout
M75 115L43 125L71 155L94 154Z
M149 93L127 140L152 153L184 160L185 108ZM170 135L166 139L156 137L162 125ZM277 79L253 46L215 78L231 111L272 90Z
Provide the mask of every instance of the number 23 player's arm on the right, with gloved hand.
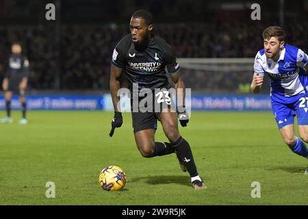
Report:
M185 110L185 84L180 73L170 75L173 82L175 82L175 91L177 94L177 116L182 127L187 126L189 121L188 114Z

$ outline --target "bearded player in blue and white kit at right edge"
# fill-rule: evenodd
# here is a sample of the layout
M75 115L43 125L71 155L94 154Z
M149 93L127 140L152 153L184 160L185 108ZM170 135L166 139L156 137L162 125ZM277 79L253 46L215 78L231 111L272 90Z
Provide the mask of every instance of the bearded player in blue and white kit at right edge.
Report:
M264 75L270 77L272 112L285 144L308 159L308 56L301 49L285 44L281 27L268 27L262 34L264 49L255 56L251 90L261 90ZM294 116L299 137L294 133ZM308 168L305 171L308 175Z

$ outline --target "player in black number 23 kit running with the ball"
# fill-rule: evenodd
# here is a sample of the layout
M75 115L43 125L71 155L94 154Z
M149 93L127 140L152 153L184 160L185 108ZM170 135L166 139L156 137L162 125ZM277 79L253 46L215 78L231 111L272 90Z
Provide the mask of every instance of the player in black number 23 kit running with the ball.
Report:
M182 88L182 91L185 89L183 79L179 73L179 64L175 59L175 53L162 38L152 34L152 22L153 16L146 10L138 10L133 13L130 22L131 34L120 40L114 49L110 70L110 92L115 114L112 120L110 136L113 136L114 129L121 127L123 123L118 90L120 89L120 75L125 70L129 81L129 90L133 92L133 95L131 95L133 133L141 155L143 157L155 157L176 153L181 169L183 172L188 171L190 174L193 188L203 190L206 186L198 176L190 145L181 137L177 125L177 116L182 127L185 127L188 123L184 95L179 95L179 92L177 92L177 112L175 110L171 111L170 106L168 106L169 110L165 109L162 112L144 112L140 109L136 110L136 107L133 106L132 96L136 94L136 88L138 88L137 92L140 92L142 88L149 88L148 90L152 91L157 90L155 88L165 88L166 90L171 88L165 67L175 83L175 89ZM166 92L162 94L166 94ZM164 96L164 98L166 97L165 99L162 99L163 95L161 95L158 102L152 96L150 96L151 103L156 106L160 105L160 102L170 101L169 94ZM142 99L140 93L139 98ZM140 103L140 100L138 103ZM170 143L155 142L157 119L162 123L164 133Z

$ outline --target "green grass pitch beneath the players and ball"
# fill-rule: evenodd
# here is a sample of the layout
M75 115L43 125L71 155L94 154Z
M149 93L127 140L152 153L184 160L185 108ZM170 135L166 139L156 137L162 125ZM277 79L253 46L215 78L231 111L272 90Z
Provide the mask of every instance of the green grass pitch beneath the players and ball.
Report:
M0 205L308 205L307 159L283 143L271 112L193 112L180 127L207 190L192 188L175 154L142 157L129 113L112 138L109 112L32 111L24 126L12 115L0 124ZM160 124L155 140L166 141ZM109 165L125 170L123 190L99 187Z

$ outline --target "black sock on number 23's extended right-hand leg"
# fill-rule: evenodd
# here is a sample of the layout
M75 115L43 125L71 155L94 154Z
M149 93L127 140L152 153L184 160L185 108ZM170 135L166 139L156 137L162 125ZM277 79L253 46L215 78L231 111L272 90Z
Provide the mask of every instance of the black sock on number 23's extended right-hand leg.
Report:
M192 156L192 150L190 149L190 144L188 144L185 139L180 137L173 145L176 147L177 157L179 157L187 168L190 177L198 176L196 164L194 164L194 157Z

